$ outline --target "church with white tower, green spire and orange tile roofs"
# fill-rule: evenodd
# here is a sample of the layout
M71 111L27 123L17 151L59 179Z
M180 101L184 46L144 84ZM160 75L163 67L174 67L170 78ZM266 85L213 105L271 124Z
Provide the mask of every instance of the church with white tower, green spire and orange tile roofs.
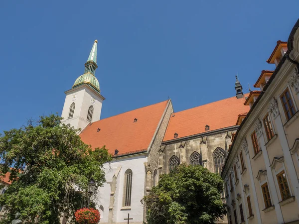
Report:
M221 173L232 136L250 110L244 104L249 94L243 94L236 77L236 95L228 99L181 112L174 112L169 99L100 119L105 98L95 75L97 44L95 40L84 74L65 92L62 122L81 128L81 139L92 148L105 145L113 155L97 193L101 223L143 224L141 200L161 174L182 162Z

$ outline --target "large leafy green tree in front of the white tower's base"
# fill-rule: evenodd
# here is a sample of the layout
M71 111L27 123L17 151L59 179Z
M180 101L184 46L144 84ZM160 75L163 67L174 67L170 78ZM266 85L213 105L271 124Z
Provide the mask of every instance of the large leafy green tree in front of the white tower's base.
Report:
M16 212L28 224L59 224L63 214L71 217L86 206L91 179L97 187L105 182L103 164L111 161L105 146L92 151L61 119L41 116L0 136L0 175L10 172L12 181L0 195L2 224L10 224Z

